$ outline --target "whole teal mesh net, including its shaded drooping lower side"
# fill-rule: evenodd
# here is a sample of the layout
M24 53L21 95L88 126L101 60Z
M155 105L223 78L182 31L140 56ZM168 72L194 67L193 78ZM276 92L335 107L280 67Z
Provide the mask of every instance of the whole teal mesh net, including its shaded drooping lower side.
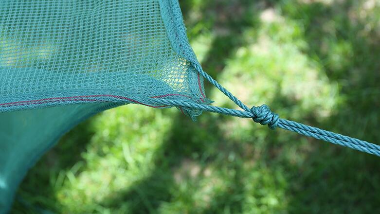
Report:
M0 213L28 168L91 115L167 107L156 98L208 104L195 65L177 0L3 0Z

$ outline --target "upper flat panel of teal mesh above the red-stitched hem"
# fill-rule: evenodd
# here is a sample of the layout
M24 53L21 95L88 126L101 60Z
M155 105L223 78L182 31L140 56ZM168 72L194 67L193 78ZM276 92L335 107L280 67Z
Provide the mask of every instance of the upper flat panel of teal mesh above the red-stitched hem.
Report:
M0 50L0 111L109 93L206 102L176 1L3 1ZM39 101L57 96L76 99Z

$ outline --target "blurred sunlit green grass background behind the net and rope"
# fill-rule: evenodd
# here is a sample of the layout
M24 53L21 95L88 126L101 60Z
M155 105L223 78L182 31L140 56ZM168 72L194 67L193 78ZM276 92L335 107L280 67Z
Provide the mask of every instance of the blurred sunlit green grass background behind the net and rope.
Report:
M379 0L181 0L190 43L248 106L380 143ZM235 105L206 84L215 105ZM127 105L66 134L13 213L378 213L379 158L250 119Z

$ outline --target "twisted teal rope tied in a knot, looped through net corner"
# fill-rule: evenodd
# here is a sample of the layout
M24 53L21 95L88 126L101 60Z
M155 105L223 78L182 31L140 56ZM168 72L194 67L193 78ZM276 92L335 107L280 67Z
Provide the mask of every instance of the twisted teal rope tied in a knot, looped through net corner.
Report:
M341 134L336 134L336 133L319 129L316 127L312 127L309 125L303 125L300 123L296 123L294 121L281 119L276 113L273 113L271 109L266 105L249 108L246 105L244 105L239 99L237 99L233 94L231 94L227 89L222 87L210 75L204 72L198 64L193 64L193 66L199 72L199 74L201 74L211 84L217 87L217 89L223 92L228 98L230 98L237 106L241 107L244 111L230 109L230 108L223 108L223 107L208 106L208 105L197 104L197 103L186 102L186 101L174 101L174 100L166 100L166 99L154 99L152 100L152 102L167 105L167 106L188 107L188 108L193 108L193 109L199 109L202 111L210 111L210 112L221 113L225 115L231 115L235 117L252 118L254 122L259 123L261 125L268 125L271 129L280 127L289 131L296 132L301 135L313 137L318 140L323 140L323 141L338 144L341 146L346 146L352 149L356 149L356 150L366 152L372 155L377 155L380 157L380 146L374 143L368 143L366 141L362 141L356 138L351 138L351 137L344 136Z

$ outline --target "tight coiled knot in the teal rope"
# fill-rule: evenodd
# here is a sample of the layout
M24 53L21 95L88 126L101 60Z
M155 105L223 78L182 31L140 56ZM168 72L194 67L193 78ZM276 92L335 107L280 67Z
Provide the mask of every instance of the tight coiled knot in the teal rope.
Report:
M273 113L267 105L252 107L253 121L261 125L268 125L271 129L275 129L278 125L278 114Z

